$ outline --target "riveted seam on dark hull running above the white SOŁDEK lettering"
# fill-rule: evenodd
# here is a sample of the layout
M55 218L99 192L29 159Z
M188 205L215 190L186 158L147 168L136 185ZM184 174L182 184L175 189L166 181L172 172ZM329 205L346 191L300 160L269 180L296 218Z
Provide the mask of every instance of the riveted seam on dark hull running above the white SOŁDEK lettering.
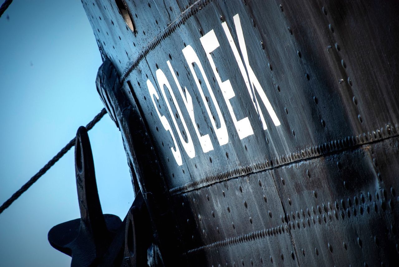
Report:
M159 33L156 35L150 43L146 45L146 48L138 55L135 61L133 61L130 66L125 69L124 74L122 75L122 79L120 80L120 83L122 84L127 77L132 73L132 71L138 66L138 64L150 53L151 50L154 50L160 43L166 39L169 35L171 35L176 29L184 24L188 18L191 16L195 15L198 13L200 10L202 10L205 6L207 6L212 0L198 0L194 4L192 4L189 8L184 10L182 13L180 13L180 16L176 18L162 33Z

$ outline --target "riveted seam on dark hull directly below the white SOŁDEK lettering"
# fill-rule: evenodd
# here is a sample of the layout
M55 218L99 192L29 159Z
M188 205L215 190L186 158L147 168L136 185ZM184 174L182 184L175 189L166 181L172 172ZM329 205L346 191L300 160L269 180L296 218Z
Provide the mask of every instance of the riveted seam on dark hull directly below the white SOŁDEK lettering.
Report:
M257 173L259 171L275 169L284 165L321 157L322 155L326 155L328 153L338 153L345 149L350 149L360 145L366 145L376 141L382 141L384 139L397 137L399 136L398 132L399 127L397 124L395 124L395 126L392 126L391 124L386 124L385 129L381 127L372 132L363 132L359 135L352 135L338 140L335 139L328 143L307 147L305 149L301 149L300 151L289 153L270 161L266 160L245 167L239 167L231 171L225 171L224 173L209 175L188 184L170 188L169 192L172 195L190 192L192 190L197 190L199 188L212 185L214 183L242 177L243 175L248 175L250 173Z

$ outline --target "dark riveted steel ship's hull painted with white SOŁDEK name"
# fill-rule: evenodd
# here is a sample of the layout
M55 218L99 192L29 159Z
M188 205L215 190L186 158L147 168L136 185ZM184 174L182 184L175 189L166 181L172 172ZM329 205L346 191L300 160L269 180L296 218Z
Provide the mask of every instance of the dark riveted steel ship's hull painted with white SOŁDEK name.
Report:
M398 257L396 2L126 4L136 32L114 1L83 1L126 100L142 110L183 257Z

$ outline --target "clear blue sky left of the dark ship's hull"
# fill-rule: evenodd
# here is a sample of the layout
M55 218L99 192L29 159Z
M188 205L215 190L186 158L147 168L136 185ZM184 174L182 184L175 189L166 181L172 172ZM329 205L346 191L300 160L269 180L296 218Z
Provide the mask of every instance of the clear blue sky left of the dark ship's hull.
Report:
M0 18L1 203L103 108L100 65L80 0L16 0ZM89 137L103 212L123 219L134 196L120 132L105 115ZM71 149L0 214L1 266L70 266L47 233L80 217L74 164Z

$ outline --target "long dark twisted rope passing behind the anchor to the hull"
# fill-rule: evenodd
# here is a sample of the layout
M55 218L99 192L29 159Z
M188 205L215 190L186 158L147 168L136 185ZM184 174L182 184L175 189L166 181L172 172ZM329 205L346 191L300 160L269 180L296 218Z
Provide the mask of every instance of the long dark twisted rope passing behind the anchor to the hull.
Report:
M4 4L3 4L4 5ZM91 128L93 128L93 126L95 126L95 124L97 122L99 122L101 120L101 118L103 118L103 116L107 113L107 111L105 110L105 108L103 108L101 110L101 112L99 114L97 114L93 120L91 122L89 122L86 125L86 129L87 131L89 131ZM10 198L8 198L8 200L6 200L6 202L4 202L1 206L0 206L0 214L6 209L8 208L12 202L14 202L15 200L17 200L17 198L19 198L26 190L28 190L36 181L39 180L39 178L46 173L46 171L48 171L59 159L61 159L61 157L63 155L65 155L65 153L68 152L69 149L71 149L73 146L75 145L75 138L73 138L71 141L69 141L69 143L67 143L67 145L65 145L65 147L63 147L63 149L61 149L57 155L55 155L46 165L44 165L43 168L40 169L40 171L38 171L38 173L36 173L28 182L26 182L25 185L23 185L17 192L15 192Z

